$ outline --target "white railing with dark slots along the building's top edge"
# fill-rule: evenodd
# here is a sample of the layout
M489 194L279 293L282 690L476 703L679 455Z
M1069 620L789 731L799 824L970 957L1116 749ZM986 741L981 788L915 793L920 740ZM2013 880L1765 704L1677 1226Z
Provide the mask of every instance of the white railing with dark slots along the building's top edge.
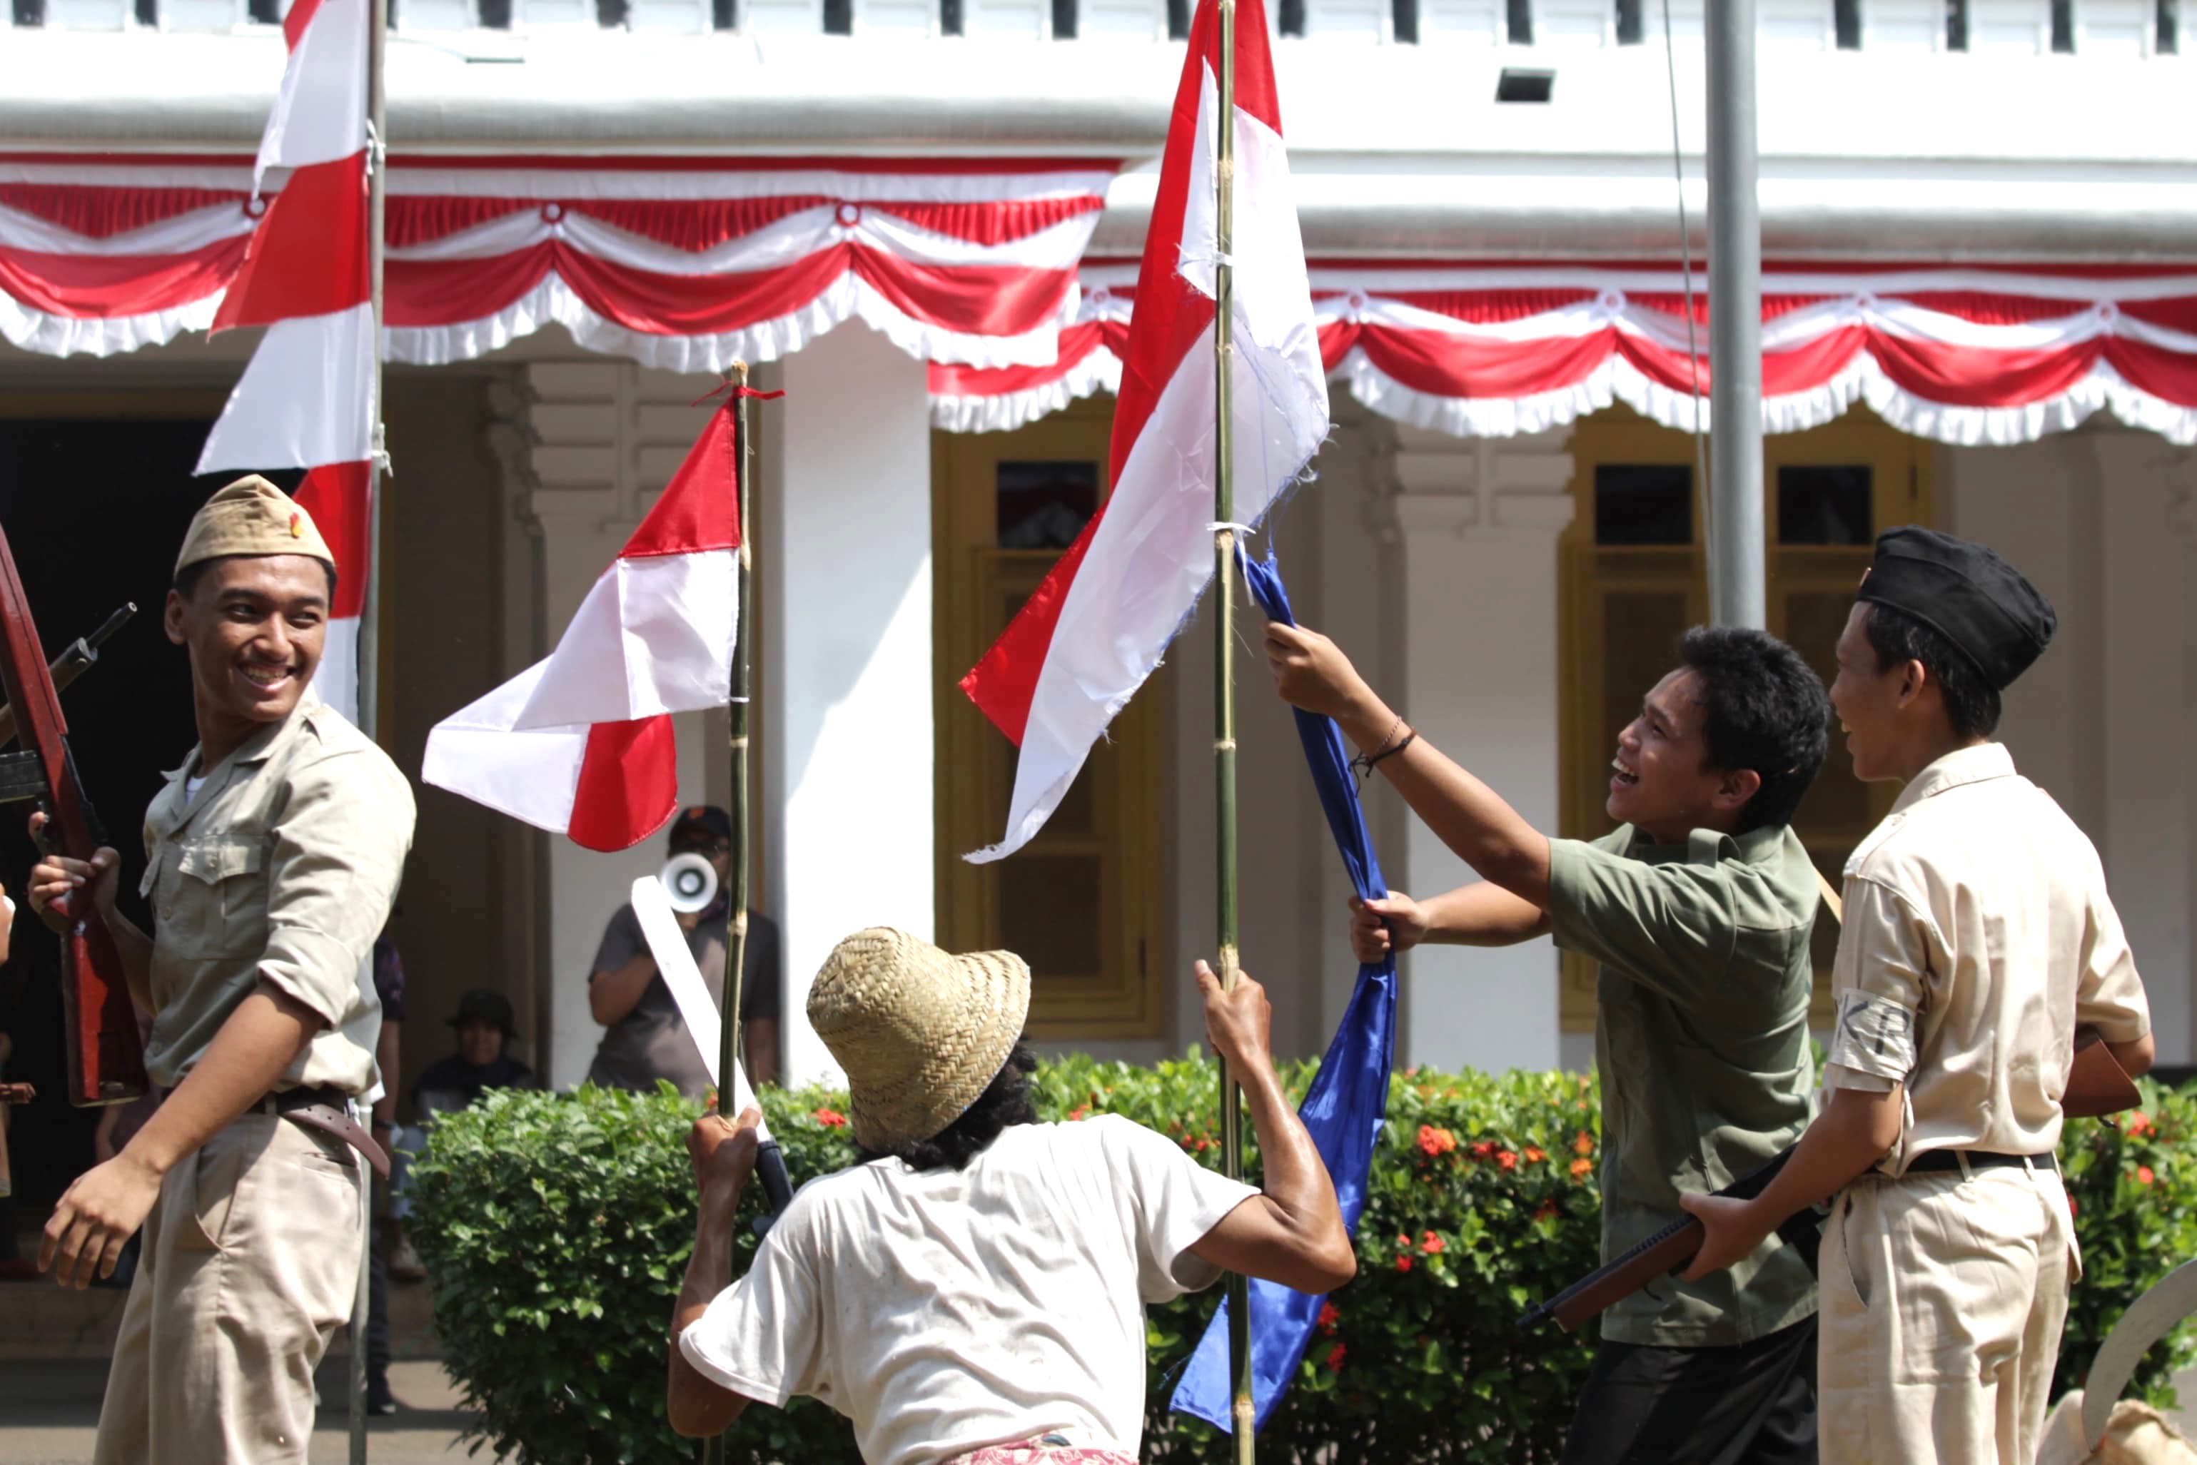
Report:
M1700 44L1703 0L1668 0L1674 44ZM2153 57L2182 51L2197 0L1758 0L1764 46ZM288 0L0 0L0 31L239 31ZM1663 42L1663 0L1272 0L1279 35L1457 48ZM743 31L756 35L984 35L1180 40L1189 0L391 0L391 26L448 31ZM2193 44L2197 48L2197 44Z

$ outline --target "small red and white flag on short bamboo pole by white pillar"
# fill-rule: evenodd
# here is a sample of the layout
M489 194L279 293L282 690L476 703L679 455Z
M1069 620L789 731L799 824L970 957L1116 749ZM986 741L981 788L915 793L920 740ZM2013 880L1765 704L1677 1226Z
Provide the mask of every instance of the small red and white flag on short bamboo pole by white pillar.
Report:
M732 701L738 547L725 406L556 650L437 723L420 778L589 850L663 828L679 808L670 714Z

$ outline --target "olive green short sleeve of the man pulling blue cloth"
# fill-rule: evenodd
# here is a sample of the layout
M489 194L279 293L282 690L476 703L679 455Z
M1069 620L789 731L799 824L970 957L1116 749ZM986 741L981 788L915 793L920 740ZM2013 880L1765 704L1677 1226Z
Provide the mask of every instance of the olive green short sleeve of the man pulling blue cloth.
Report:
M1731 962L1738 918L1722 863L1624 854L1630 826L1595 839L1549 841L1549 931L1672 1002L1694 1006Z

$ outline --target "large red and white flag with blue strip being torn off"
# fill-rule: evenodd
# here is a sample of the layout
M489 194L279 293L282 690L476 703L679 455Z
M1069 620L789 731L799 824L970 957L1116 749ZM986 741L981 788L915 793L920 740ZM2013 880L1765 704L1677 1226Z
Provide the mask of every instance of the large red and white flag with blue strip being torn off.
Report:
M1022 745L1006 837L971 861L1004 859L1044 828L1213 578L1222 125L1235 127L1235 518L1259 525L1327 437L1327 380L1261 0L1239 0L1235 40L1235 116L1222 119L1219 11L1204 0L1136 279L1114 406L1114 492L960 683Z

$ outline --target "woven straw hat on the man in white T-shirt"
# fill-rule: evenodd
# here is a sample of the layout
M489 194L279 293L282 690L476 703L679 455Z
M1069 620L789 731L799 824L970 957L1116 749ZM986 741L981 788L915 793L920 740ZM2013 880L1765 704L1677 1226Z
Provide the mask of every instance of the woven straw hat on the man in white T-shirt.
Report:
M958 1120L1028 1013L1030 964L1013 951L951 955L892 927L841 940L808 988L808 1026L846 1070L848 1122L872 1151Z

